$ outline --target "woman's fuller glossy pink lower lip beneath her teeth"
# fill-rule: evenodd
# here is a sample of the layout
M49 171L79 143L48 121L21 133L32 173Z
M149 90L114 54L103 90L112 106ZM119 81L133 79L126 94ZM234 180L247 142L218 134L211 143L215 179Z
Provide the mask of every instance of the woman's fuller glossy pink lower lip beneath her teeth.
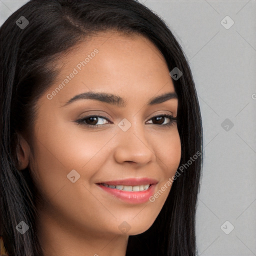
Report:
M149 200L149 197L153 195L155 188L155 184L152 184L146 190L131 192L120 190L117 188L110 188L99 184L98 186L101 187L104 191L122 199L123 201L133 204L147 202Z

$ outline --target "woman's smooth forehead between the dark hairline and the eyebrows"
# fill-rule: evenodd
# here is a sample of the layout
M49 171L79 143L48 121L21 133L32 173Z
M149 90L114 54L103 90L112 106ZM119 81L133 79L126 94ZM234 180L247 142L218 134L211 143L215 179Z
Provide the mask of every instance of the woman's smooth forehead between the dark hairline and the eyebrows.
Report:
M133 95L133 99L174 91L164 57L140 34L100 32L76 44L59 59L59 65L60 72L47 90L56 91L51 101L57 104L90 90L125 98Z

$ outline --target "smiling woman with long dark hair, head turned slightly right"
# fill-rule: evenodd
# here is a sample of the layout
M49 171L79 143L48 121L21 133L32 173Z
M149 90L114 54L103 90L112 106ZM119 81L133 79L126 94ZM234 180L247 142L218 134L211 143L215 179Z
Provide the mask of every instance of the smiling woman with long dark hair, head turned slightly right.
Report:
M31 0L0 42L6 253L196 255L201 117L166 24L134 0Z

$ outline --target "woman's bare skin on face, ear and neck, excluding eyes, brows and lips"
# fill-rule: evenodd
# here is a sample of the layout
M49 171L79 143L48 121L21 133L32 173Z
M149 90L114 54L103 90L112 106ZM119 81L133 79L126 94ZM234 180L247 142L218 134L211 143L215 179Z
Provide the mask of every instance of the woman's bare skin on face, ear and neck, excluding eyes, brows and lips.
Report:
M98 53L52 99L47 98L87 54ZM37 102L37 117L30 138L21 136L19 168L29 165L45 202L37 205L37 228L44 255L125 256L129 235L147 230L160 212L170 187L154 202L131 204L113 197L95 183L130 177L158 180L160 189L178 168L181 145L176 122L157 124L158 114L177 114L178 100L147 105L151 97L174 92L166 62L152 42L141 35L101 32L76 45L61 58L61 70ZM86 91L123 97L118 107L80 99ZM99 128L75 120L89 114ZM126 118L131 126L117 125ZM170 120L162 117L162 123ZM91 122L89 122L91 123ZM28 142L30 141L30 142ZM33 148L33 154L31 153ZM67 174L75 169L80 178L72 183ZM126 221L130 229L118 226Z

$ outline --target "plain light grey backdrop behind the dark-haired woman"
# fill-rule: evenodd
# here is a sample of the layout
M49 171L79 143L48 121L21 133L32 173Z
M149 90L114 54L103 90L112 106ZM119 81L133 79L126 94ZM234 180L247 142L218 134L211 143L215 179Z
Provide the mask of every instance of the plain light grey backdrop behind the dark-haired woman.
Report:
M25 2L0 0L0 24ZM256 1L140 2L181 44L199 97L204 165L198 255L256 255Z

